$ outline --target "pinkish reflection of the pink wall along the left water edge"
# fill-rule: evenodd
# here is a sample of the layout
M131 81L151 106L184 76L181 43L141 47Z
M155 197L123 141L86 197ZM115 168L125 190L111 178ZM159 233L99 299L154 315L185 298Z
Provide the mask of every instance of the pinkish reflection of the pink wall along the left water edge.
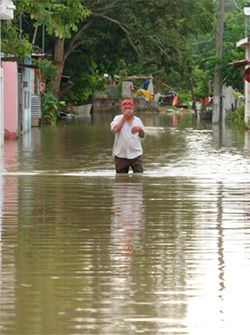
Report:
M9 150L8 150L9 149ZM0 310L1 329L15 310L15 245L17 229L17 177L2 172L17 166L16 141L6 141L0 156Z

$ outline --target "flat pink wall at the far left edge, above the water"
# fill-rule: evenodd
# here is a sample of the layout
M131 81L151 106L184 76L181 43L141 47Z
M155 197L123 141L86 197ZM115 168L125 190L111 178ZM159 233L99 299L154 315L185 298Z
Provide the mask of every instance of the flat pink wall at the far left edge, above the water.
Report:
M18 70L16 62L3 62L4 75L4 138L16 139L18 134Z

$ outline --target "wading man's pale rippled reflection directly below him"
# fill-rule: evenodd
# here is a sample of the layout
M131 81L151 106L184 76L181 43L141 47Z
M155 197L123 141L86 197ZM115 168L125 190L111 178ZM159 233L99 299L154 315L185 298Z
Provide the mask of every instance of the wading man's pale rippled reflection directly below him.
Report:
M111 239L117 257L140 248L144 229L143 176L117 175L113 187Z

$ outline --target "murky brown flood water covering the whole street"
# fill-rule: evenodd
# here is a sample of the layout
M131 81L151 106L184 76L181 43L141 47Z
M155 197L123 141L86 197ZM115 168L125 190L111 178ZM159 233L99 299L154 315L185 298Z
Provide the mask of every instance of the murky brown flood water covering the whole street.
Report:
M249 334L250 133L140 116L143 175L111 115L6 142L1 335Z

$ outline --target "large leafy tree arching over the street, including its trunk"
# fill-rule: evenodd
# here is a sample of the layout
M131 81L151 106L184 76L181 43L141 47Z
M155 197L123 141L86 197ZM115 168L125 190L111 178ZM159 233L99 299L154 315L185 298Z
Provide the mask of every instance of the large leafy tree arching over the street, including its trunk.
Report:
M128 71L155 71L163 82L176 82L187 62L190 35L210 30L213 16L213 0L19 0L17 4L19 12L30 16L34 31L46 26L58 69L58 95L66 62L82 50L98 69L108 64L114 71L123 62ZM98 50L96 44L104 44L100 36L107 43Z

